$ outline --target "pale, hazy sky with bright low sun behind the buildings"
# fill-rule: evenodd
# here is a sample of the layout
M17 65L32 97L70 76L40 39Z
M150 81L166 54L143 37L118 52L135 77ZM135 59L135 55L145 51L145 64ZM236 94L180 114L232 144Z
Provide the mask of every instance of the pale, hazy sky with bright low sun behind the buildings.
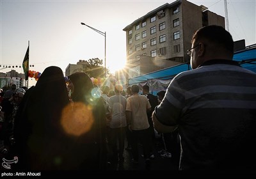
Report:
M68 64L79 59L104 61L106 32L106 67L115 72L125 65L124 27L165 3L174 1L22 1L0 0L0 72L22 68L29 41L29 70L44 72L47 66L59 66L65 75ZM190 1L203 4L211 12L225 17L223 0ZM229 31L234 39L256 43L256 0L227 1ZM31 79L33 80L33 79Z

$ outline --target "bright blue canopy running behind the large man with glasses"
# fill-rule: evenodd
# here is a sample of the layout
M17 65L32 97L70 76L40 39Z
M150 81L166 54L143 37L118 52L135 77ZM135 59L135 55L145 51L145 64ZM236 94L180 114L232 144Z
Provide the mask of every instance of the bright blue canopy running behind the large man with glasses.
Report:
M243 51L235 52L233 60L239 61L239 64L248 70L256 73L256 47L253 49L245 49ZM191 70L189 63L183 63L169 68L164 68L156 72L151 72L145 75L132 77L128 79L128 84L147 83L152 81L170 81L175 75L180 72Z

